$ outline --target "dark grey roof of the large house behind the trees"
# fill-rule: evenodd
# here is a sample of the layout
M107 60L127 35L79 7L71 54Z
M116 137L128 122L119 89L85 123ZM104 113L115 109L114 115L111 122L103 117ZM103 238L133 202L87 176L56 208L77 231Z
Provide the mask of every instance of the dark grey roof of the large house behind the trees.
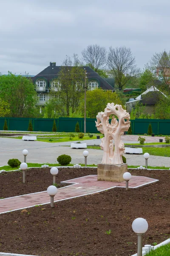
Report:
M48 66L36 76L32 78L32 81L35 82L38 78L45 78L47 81L51 81L55 79L59 75L59 71L61 70L62 66ZM87 71L88 81L92 79L97 79L99 81L100 87L104 90L115 90L114 89L114 79L103 79L99 76L91 67L84 66L82 67Z

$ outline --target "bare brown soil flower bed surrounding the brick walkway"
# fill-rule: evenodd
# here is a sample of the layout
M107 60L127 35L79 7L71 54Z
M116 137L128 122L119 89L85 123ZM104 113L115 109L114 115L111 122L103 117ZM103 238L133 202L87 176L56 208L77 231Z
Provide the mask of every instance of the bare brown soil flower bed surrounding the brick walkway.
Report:
M57 183L91 174L96 174L96 169L61 169ZM47 204L1 214L0 251L40 256L130 256L136 253L137 243L131 224L138 217L146 218L149 224L143 244L168 239L170 171L133 170L132 175L159 182L60 201L54 208ZM21 172L0 175L0 196L43 191L51 181L49 169L29 169L25 188Z

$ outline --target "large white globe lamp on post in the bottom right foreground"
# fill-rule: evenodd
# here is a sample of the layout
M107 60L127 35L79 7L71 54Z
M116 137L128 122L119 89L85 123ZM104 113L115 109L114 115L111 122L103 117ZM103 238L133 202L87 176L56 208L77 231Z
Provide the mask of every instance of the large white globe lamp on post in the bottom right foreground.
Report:
M142 256L142 236L148 229L148 223L144 218L136 218L132 223L132 229L138 236L137 256Z

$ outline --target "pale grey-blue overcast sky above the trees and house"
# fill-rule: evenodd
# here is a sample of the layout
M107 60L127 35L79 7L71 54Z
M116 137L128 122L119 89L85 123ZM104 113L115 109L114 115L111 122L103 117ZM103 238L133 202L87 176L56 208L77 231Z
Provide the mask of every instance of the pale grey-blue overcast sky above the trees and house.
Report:
M143 69L170 50L170 0L0 0L0 73L36 75L89 44L130 47Z

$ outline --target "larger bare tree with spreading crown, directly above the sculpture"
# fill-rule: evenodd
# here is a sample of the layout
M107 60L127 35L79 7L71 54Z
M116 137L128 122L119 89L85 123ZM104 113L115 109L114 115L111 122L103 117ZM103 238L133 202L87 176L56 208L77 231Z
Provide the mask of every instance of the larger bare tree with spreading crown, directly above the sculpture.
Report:
M139 76L140 70L135 64L135 57L132 56L130 48L125 46L109 48L108 67L119 90L122 90L132 77Z

